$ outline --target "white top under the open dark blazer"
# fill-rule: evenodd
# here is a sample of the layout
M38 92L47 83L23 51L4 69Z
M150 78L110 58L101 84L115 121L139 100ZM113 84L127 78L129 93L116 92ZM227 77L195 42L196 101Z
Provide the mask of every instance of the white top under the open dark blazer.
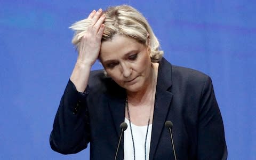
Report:
M133 160L133 145L132 145L132 134L135 146L135 159L136 160L144 160L145 159L145 139L147 133L147 125L145 126L137 126L131 123L132 126L132 134L130 129L130 124L128 119L124 119L124 122L127 123L127 129L124 131L124 160ZM146 155L149 159L149 149L150 149L150 141L151 141L151 131L152 124L148 126L148 136L146 143Z

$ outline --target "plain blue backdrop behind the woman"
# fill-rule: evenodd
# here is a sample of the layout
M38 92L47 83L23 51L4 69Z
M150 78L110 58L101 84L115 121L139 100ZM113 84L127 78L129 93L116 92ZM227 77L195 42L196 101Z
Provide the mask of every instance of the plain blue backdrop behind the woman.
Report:
M0 0L0 159L89 159L49 145L77 55L68 27L120 4L145 15L172 64L212 77L228 159L256 159L256 1L242 0Z

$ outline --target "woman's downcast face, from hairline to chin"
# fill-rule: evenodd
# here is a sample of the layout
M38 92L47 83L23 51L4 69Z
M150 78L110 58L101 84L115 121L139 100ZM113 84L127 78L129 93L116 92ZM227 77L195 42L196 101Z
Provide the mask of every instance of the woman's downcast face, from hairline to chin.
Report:
M100 61L108 76L127 91L145 90L151 81L149 48L133 38L116 35L102 42Z

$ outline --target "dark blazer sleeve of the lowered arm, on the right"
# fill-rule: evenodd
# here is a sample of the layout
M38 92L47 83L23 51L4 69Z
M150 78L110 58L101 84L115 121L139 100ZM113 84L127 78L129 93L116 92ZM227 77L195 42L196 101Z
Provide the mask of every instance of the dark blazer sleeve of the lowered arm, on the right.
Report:
M208 76L202 89L198 114L198 159L227 159L223 122Z

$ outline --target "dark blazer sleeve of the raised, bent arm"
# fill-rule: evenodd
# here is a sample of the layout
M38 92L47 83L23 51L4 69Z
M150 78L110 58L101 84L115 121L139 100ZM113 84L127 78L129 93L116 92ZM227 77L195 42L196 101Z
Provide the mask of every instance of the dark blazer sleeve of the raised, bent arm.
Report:
M50 135L50 145L61 154L74 154L85 149L90 142L89 113L86 97L89 93L77 92L70 81L62 95Z

